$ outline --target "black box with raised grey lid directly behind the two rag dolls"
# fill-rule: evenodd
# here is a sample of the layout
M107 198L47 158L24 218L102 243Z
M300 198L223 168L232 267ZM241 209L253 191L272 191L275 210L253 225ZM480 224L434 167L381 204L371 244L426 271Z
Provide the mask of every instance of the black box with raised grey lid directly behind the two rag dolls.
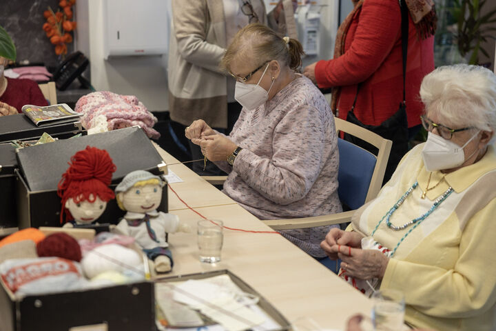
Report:
M116 165L112 176L114 189L123 177L134 170L147 170L161 175L167 166L138 127L92 134L45 143L17 150L19 170L17 177L17 213L19 228L61 226L61 199L56 194L57 184L68 169L70 158L86 146L107 150ZM158 210L167 212L167 186L164 187ZM98 219L99 223L118 223L125 212L118 208L116 200L108 201L107 208Z

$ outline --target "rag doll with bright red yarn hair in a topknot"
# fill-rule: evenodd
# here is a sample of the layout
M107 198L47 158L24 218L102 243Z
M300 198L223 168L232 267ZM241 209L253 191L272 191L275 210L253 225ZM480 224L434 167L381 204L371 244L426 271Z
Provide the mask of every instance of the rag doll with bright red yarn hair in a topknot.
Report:
M96 147L86 146L71 157L57 190L64 227L92 224L101 217L107 202L114 199L109 185L115 170L108 152Z

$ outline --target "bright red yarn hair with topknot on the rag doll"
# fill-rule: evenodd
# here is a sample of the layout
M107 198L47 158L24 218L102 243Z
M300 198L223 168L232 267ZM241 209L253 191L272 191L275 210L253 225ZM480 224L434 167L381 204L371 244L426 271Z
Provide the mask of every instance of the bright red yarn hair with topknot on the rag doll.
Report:
M65 212L65 221L74 219L69 210L65 208L68 199L74 199L75 203L81 201L94 202L96 197L102 201L114 199L114 191L108 185L112 182L112 173L116 166L112 162L106 150L86 146L85 150L76 152L71 157L72 164L68 162L69 168L62 174L59 181L57 194L61 197L61 223ZM91 199L93 194L93 199Z

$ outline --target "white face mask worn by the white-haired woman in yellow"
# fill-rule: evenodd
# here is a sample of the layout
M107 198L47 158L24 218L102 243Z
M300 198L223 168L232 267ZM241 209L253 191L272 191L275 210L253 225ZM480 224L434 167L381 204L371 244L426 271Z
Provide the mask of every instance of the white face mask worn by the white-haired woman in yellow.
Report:
M477 134L474 134L471 139L468 139L464 146L458 146L453 141L444 139L437 134L428 132L427 141L422 150L422 158L427 171L444 170L459 167L465 161L464 148L474 139ZM477 149L472 153L477 152Z

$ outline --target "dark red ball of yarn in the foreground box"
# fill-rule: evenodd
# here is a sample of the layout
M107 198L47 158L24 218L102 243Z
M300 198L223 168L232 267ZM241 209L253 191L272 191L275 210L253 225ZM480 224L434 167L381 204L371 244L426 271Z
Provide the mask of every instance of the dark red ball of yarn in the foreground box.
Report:
M81 261L81 247L76 239L64 232L48 235L37 244L39 257L61 257L72 261Z

